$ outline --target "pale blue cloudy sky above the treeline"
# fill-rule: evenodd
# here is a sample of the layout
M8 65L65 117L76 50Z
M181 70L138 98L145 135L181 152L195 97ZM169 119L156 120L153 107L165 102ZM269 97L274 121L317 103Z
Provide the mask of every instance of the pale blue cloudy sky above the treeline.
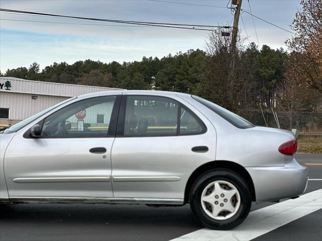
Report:
M165 1L168 3L151 0L0 0L0 8L126 21L232 25L233 16L226 8L228 0ZM250 7L254 15L291 31L300 0L243 0L241 8L249 11ZM256 18L254 28L252 17L243 11L241 19L239 29L243 37L248 37L246 45L255 42L260 48L265 44L273 49L287 50L284 42L292 37L291 33ZM205 50L207 33L0 12L0 70L28 68L33 62L43 69L54 62L72 64L86 59L123 63L140 61L143 56L162 58L189 49Z

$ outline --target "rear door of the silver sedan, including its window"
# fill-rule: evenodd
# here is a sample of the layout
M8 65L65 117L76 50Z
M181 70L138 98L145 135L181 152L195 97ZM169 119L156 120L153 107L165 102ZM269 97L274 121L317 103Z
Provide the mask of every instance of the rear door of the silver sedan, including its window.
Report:
M192 172L215 160L214 127L173 95L128 95L121 106L112 149L114 197L181 203Z

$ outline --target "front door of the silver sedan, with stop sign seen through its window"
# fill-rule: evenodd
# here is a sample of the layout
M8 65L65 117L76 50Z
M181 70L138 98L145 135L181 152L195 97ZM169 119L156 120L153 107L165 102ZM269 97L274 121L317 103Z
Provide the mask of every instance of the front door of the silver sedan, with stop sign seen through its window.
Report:
M18 131L5 156L12 200L113 197L110 153L121 96L73 102L38 124L41 136Z

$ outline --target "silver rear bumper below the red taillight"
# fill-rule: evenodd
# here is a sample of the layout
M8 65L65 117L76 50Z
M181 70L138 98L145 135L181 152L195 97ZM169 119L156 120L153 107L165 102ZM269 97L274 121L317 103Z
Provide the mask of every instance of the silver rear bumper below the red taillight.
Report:
M247 167L256 193L256 202L275 201L302 194L307 186L307 168L295 158L278 167Z

